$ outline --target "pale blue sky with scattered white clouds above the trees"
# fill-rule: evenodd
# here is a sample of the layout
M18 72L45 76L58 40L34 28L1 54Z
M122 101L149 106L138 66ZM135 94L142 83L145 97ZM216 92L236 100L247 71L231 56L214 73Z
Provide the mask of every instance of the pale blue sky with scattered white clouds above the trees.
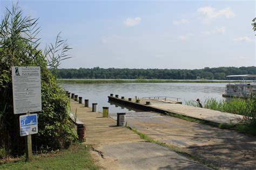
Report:
M5 7L17 1L0 0ZM59 32L61 68L203 69L255 66L255 1L22 1L39 18L41 47Z

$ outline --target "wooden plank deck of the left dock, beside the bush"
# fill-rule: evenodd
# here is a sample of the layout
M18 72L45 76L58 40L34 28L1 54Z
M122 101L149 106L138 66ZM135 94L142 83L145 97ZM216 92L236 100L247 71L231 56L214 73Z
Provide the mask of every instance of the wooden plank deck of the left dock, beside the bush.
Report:
M77 119L85 123L87 144L99 145L144 141L128 128L116 126L116 120L103 118L102 113L92 112L92 108L84 107L84 104L78 104L77 101L71 100L70 108L73 113L77 110Z

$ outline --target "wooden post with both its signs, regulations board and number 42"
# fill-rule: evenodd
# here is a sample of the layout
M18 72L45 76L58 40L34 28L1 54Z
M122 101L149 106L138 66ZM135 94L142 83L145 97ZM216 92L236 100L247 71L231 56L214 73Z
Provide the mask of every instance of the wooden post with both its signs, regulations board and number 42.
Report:
M31 134L38 133L37 114L42 110L40 67L12 67L12 94L14 114L26 113L19 117L19 134L25 136L26 160L32 159Z

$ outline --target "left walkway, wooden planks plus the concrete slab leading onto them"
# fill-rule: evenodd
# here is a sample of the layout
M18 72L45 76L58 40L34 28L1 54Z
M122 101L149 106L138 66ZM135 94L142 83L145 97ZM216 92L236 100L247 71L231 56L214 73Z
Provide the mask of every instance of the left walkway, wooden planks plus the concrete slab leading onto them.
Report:
M147 142L116 121L91 112L76 101L70 102L71 111L77 110L78 120L86 126L86 144L91 144L96 161L106 169L210 169L171 149ZM100 156L102 156L104 159Z

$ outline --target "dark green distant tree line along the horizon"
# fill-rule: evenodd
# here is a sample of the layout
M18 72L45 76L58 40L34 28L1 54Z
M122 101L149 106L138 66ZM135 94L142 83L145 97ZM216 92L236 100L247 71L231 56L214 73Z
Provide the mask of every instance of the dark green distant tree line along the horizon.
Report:
M217 67L204 69L58 69L57 78L77 79L216 79L228 75L256 74L256 67Z

